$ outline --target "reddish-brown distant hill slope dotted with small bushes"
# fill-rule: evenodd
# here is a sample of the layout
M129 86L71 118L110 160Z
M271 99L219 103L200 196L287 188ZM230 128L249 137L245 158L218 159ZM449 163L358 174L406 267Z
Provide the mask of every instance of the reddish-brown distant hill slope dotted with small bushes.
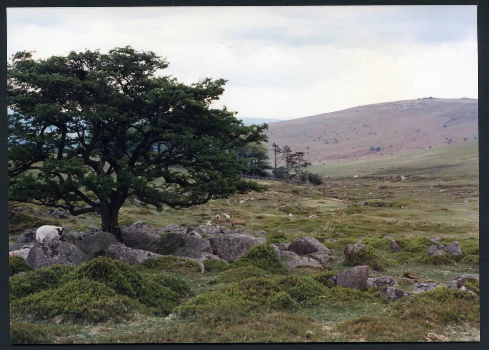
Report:
M293 151L305 151L314 163L404 153L476 139L478 100L428 98L369 104L270 123L267 135L269 145L287 144Z

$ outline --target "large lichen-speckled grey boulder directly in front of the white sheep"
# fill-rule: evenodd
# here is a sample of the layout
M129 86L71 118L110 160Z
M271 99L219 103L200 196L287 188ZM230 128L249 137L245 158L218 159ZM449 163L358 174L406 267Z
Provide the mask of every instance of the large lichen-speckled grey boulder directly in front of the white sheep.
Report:
M89 260L89 256L75 245L57 239L47 238L36 243L27 255L31 268L44 268L50 265L78 266Z

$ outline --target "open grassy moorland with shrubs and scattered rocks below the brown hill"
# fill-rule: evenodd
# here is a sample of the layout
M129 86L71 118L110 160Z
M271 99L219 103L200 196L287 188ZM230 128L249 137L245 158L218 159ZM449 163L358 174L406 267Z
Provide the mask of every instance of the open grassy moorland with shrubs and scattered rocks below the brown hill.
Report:
M170 256L35 270L11 257L11 342L479 340L477 142L312 171L322 185L259 181L263 192L180 210L128 201L119 216L128 237L167 242L132 248ZM100 227L96 215L47 209L10 203L15 249L41 225L63 226L75 240ZM196 257L172 246L191 235L253 244L176 257Z

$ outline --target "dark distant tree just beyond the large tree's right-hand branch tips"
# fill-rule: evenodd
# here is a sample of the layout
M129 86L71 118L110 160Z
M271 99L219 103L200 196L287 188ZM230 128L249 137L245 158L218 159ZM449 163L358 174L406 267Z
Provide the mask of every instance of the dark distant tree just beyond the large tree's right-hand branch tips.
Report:
M269 176L267 148L263 144L249 143L236 148L238 162L244 175Z

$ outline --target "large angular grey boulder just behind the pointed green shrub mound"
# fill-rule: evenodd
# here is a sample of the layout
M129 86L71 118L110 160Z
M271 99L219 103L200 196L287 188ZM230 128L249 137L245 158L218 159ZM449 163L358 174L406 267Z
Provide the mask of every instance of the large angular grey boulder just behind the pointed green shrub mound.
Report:
M265 244L265 238L229 233L210 238L212 253L227 262L234 261L249 248Z

